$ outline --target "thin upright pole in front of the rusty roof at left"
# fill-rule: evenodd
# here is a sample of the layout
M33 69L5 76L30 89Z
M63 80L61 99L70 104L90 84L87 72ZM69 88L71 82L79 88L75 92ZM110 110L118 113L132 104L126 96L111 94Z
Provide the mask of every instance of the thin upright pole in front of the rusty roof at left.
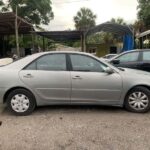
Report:
M18 6L16 4L16 18L15 18L15 33L16 33L16 50L17 55L20 57L20 50L19 50L19 36L18 36Z

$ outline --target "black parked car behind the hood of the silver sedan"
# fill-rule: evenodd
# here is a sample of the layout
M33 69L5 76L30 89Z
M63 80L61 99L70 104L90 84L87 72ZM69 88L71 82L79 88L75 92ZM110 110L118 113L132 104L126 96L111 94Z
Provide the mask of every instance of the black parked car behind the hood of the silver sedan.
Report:
M116 67L139 69L150 72L150 49L132 50L109 60Z

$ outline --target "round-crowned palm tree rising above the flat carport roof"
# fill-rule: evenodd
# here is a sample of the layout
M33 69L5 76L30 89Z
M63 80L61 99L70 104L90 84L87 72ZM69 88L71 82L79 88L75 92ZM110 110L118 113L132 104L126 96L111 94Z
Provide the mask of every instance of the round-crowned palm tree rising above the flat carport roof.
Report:
M75 27L77 30L87 30L95 26L96 15L89 8L81 8L74 16Z

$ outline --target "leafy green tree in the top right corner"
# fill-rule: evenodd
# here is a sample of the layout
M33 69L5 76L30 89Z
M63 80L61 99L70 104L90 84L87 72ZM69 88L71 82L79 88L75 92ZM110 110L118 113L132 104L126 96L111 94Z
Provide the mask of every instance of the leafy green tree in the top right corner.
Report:
M138 19L150 28L150 0L138 0Z

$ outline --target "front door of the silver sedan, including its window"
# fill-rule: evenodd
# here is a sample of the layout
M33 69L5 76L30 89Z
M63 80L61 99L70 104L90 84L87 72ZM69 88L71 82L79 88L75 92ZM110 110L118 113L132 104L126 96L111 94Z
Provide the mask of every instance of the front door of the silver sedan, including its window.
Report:
M122 79L108 74L107 66L93 57L71 54L72 102L112 103L120 100Z

